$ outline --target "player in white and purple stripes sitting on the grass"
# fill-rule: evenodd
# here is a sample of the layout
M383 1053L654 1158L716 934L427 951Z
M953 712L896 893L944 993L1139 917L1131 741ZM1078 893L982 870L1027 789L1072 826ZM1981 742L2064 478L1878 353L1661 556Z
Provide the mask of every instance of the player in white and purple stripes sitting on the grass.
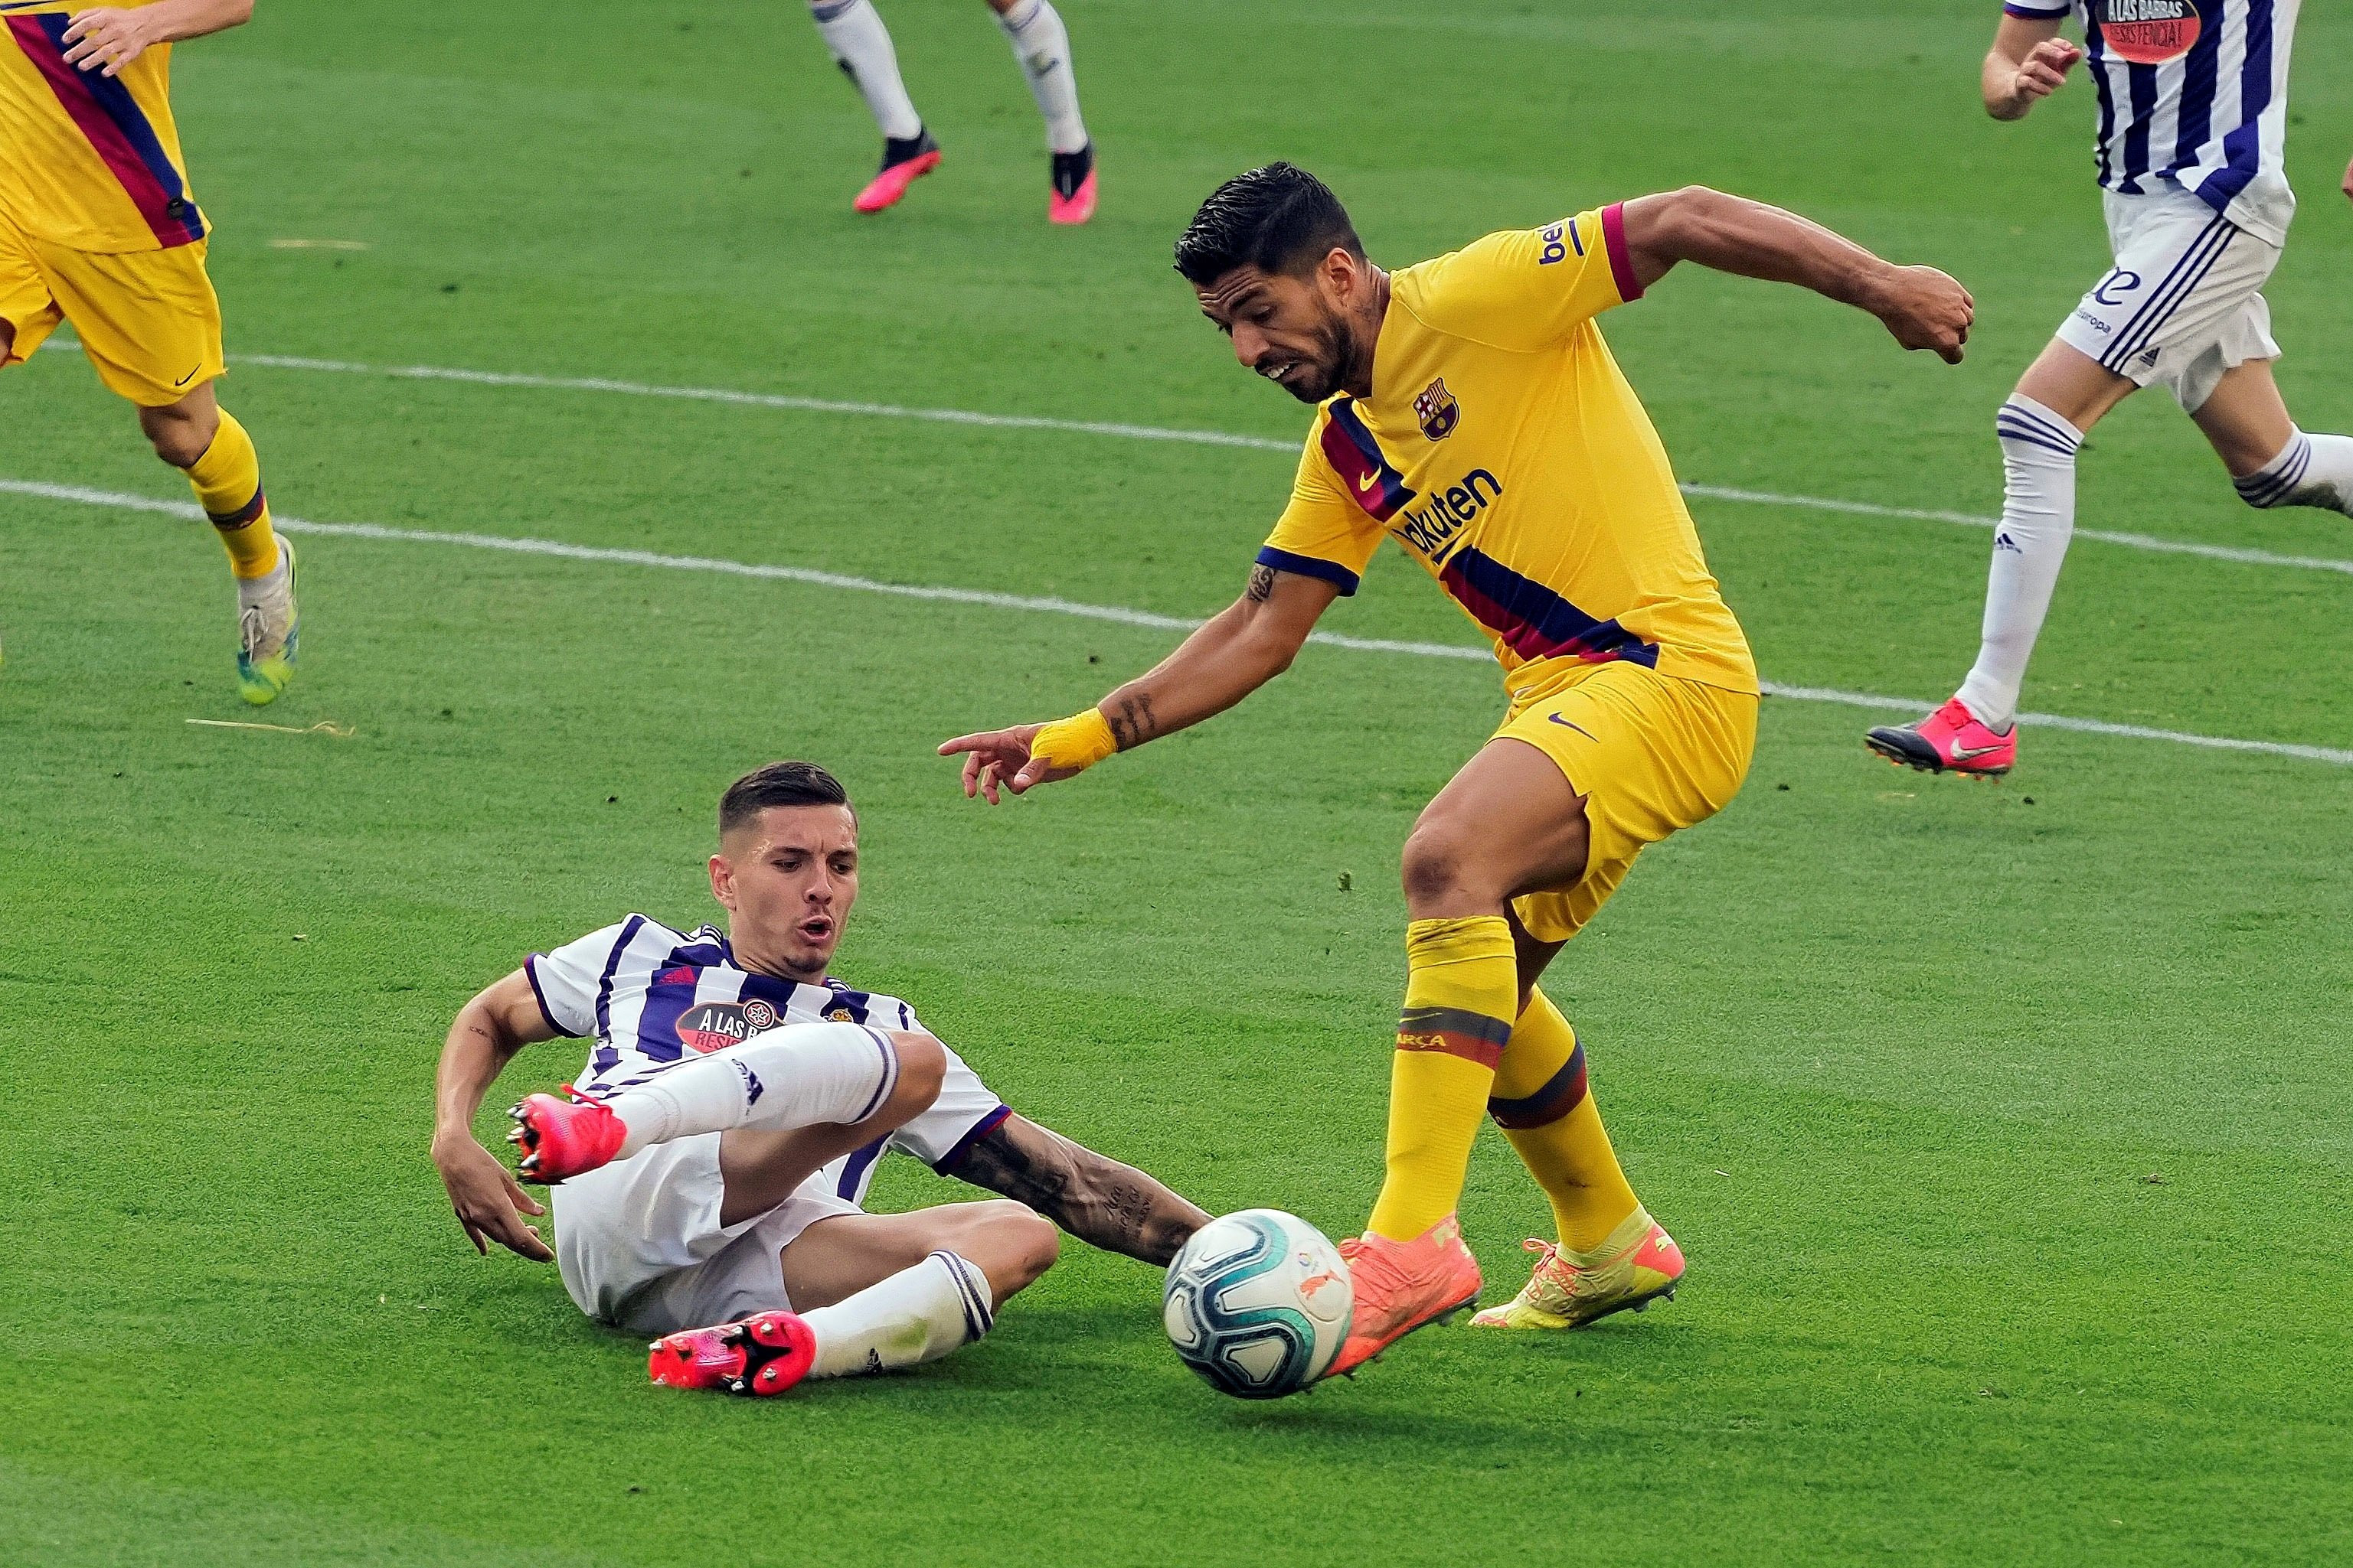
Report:
M856 853L831 773L746 773L711 856L729 931L631 914L532 954L449 1025L433 1161L459 1225L478 1251L553 1258L591 1319L666 1335L654 1382L781 1394L932 1361L1054 1262L1047 1218L1153 1265L1207 1222L1016 1117L906 1001L826 976ZM551 1253L522 1218L544 1208L471 1128L515 1051L558 1034L593 1041L579 1088L513 1112L522 1175L555 1185ZM889 1150L1014 1201L864 1213Z

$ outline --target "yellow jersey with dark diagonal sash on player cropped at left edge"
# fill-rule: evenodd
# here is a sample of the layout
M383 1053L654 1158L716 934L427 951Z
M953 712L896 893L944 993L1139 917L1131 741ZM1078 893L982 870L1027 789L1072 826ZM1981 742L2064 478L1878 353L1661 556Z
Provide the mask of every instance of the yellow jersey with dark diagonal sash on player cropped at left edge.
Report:
M125 0L146 5L148 0ZM49 244L151 252L205 237L172 125L172 47L108 78L66 63L80 5L0 0L0 214Z

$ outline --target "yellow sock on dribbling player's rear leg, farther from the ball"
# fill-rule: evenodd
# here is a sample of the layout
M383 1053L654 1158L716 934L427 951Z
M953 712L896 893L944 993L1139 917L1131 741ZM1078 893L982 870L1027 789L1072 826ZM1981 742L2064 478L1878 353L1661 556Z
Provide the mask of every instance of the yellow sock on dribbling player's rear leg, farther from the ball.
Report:
M1529 992L1527 1011L1511 1027L1487 1112L1553 1199L1553 1225L1567 1251L1600 1246L1640 1206L1586 1088L1586 1048L1541 990Z

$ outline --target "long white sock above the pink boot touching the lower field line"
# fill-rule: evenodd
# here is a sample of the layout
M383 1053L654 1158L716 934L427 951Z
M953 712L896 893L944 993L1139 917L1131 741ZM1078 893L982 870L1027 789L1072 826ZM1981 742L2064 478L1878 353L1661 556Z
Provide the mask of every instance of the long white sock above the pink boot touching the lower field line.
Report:
M2082 430L2021 393L2009 395L1993 428L2002 437L2002 522L1993 531L1977 665L1958 696L1979 724L2002 731L2019 715L2026 661L2049 614L2066 541L2075 534L2075 449L2082 447Z

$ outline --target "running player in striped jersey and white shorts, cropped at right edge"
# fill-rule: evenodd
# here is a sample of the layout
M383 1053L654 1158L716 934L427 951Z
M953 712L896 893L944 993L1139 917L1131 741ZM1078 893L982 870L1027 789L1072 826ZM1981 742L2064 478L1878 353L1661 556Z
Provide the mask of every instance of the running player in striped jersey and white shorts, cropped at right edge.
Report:
M1986 113L2019 120L2075 61L2099 89L2099 183L2115 266L2002 404L2002 522L1986 623L1960 691L1864 741L1932 773L2017 762L2019 686L2075 531L2075 451L2115 404L2162 386L2247 505L2353 515L2353 437L2306 435L2271 362L2261 287L2280 261L2287 54L2299 0L2009 0L1986 56ZM2078 16L2085 47L2059 38ZM2353 195L2353 169L2346 174Z

